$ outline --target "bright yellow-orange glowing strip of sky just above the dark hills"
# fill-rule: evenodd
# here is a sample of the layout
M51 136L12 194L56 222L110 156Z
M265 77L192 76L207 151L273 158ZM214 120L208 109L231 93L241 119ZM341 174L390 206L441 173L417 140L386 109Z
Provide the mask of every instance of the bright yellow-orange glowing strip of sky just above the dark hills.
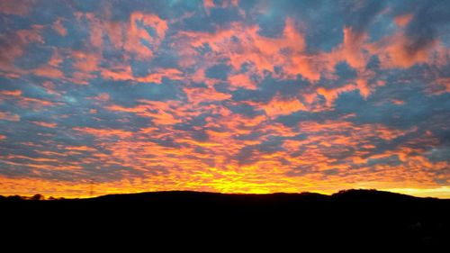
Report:
M91 184L61 184L50 181L39 181L30 179L7 179L5 177L0 177L2 180L2 185L0 185L0 194L14 195L19 194L23 196L31 196L33 194L43 194L45 197L66 197L66 198L88 198L92 196L99 196L104 194L133 194L142 192L155 192L155 191L198 191L198 192L213 192L213 193L224 193L224 194L274 194L274 193L302 193L311 192L318 194L334 194L340 190L346 189L373 189L375 188L373 182L367 183L367 186L362 186L364 184L359 183L355 185L346 185L344 187L327 187L320 188L314 185L302 185L298 186L291 185L286 187L285 185L276 184L257 184L257 183L245 183L242 181L234 182L216 182L211 185L195 186L195 185L178 185L173 187L173 185L167 185L166 187L161 185L140 185L141 182L135 182L133 185L128 180L122 180L119 183L94 183L92 185L93 195L90 195ZM5 188L5 185L14 184L14 187ZM381 183L384 185L385 183ZM442 186L436 188L401 188L401 187L379 187L378 190L389 191L392 193L399 194L410 194L418 197L437 197L450 199L450 187Z

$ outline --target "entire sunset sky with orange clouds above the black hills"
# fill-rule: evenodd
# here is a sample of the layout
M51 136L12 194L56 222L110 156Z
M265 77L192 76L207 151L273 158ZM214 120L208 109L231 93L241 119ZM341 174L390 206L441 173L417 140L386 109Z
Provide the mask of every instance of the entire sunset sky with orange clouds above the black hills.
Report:
M450 1L0 2L0 194L450 198Z

